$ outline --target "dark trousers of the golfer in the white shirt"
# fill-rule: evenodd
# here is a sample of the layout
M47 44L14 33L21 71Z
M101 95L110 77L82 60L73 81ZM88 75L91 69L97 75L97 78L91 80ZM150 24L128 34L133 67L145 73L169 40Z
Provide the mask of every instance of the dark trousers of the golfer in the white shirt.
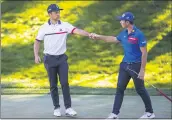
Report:
M54 105L54 109L60 107L59 105L59 94L58 94L58 80L57 75L60 80L64 105L65 108L71 107L71 97L68 83L68 63L67 63L67 55L45 55L44 56L44 65L48 73L49 82L50 82L50 92Z

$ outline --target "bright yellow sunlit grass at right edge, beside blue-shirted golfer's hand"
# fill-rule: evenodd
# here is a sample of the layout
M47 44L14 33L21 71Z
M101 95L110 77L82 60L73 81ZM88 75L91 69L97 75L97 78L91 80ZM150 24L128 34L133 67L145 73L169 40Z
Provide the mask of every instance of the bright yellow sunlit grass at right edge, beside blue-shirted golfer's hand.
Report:
M156 61L156 63L155 63ZM171 86L171 53L157 56L146 66L145 79L154 84L166 84ZM164 86L163 86L164 87Z

